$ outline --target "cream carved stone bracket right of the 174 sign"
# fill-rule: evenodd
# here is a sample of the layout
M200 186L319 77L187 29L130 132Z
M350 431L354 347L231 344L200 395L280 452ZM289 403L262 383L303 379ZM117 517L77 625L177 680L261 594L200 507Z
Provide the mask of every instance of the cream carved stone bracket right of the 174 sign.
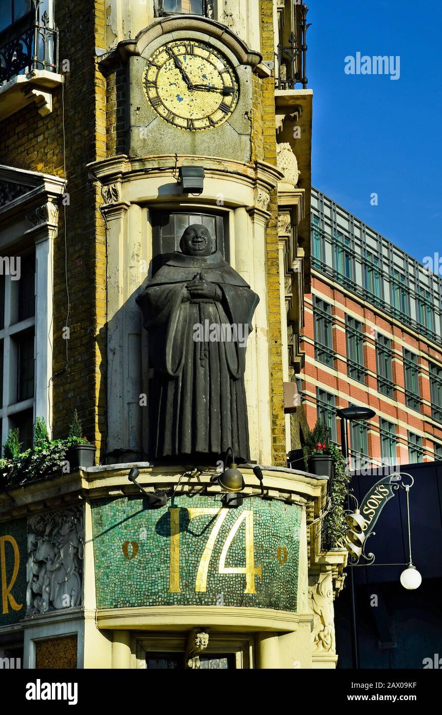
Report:
M308 577L308 594L313 611L313 652L335 654L333 581L331 573Z

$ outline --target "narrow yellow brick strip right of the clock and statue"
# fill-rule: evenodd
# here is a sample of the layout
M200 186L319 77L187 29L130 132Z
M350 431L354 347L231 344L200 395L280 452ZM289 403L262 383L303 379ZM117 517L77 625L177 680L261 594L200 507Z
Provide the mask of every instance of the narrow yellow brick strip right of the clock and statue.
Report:
M261 0L261 51L264 60L274 61L273 43L273 1ZM271 77L261 79L263 160L269 164L276 164L274 82L273 73ZM272 461L274 465L286 465L278 263L278 200L276 190L271 192L268 211L271 212L271 218L268 221L266 230L266 257L268 340L271 363Z

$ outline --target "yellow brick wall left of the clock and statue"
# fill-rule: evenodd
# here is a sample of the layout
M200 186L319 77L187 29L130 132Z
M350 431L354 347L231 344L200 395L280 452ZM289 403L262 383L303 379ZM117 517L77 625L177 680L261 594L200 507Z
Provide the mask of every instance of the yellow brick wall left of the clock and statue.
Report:
M66 135L66 264L64 209L54 242L54 436L64 436L77 408L84 433L100 446L104 434L106 374L106 241L96 187L88 183L86 164L106 156L105 82L95 58L104 47L104 3L56 0L59 59L69 59L64 83ZM36 105L0 122L0 163L19 169L65 176L62 89L56 89L53 112L41 117ZM70 328L66 340L66 278Z

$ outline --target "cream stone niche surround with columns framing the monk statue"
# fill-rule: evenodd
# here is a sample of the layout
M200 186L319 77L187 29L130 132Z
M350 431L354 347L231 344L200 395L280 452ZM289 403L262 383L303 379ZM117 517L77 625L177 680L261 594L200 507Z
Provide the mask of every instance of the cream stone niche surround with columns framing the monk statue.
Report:
M248 338L246 398L251 459L271 463L271 358L268 344L266 224L269 192L281 181L271 164L241 164L211 157L180 157L179 165L204 166L204 192L184 195L175 157L129 159L122 155L89 165L102 184L107 222L107 394L106 452L125 448L140 459L146 452L148 408L146 331L135 298L150 277L152 210L216 211L226 217L231 266L260 297ZM149 395L147 396L149 403ZM125 454L126 458L129 453Z

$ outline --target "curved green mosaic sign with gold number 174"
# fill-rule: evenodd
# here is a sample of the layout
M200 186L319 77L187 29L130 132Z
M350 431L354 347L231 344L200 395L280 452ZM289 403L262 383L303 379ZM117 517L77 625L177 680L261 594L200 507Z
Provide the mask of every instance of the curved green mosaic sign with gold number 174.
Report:
M301 508L179 496L92 503L98 608L253 606L296 611Z

